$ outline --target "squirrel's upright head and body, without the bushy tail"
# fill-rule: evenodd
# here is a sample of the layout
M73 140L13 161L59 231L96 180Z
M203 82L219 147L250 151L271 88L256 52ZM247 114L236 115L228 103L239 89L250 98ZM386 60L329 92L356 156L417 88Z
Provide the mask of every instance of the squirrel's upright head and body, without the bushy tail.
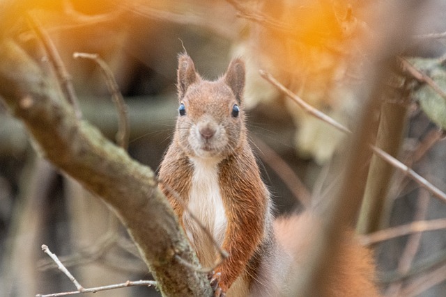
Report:
M235 289L240 291L238 296L247 296L257 266L274 242L270 238L270 194L247 143L245 117L240 109L244 82L245 67L240 60L229 65L222 79L204 81L195 72L192 60L180 56L180 115L174 140L160 166L160 187L201 264L214 267L219 255L196 219L229 253L214 273L223 294L236 282L229 296L235 295L231 293Z

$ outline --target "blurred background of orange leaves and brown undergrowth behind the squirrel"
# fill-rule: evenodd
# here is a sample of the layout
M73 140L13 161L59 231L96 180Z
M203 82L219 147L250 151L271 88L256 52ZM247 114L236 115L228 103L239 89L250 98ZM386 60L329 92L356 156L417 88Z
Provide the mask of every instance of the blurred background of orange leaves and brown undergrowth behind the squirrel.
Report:
M41 40L26 24L28 13L61 54L84 118L114 140L118 113L105 79L93 61L72 55L99 54L107 62L128 104L129 154L154 170L171 141L178 112L178 54L186 50L206 79L217 79L231 58L243 57L249 138L277 216L299 211L312 193L321 191L323 176L345 136L304 113L262 79L259 70L270 72L306 102L351 128L362 104L355 100L355 92L363 83L364 61L378 47L374 36L397 17L380 14L381 1L367 0L16 2L21 14L13 29L20 45L41 67L54 72ZM409 41L401 57L446 91L446 2L422 2L417 17L407 24ZM444 98L403 70L395 72L386 88L383 106L397 106L403 114L403 125L389 136L397 139L399 159L446 191ZM75 290L42 252L42 244L61 257L84 287L151 279L107 206L41 159L33 147L24 127L0 100L0 295ZM359 226L362 234L414 220L446 218L444 201L401 173L388 174L380 195L383 207L368 214L379 223ZM445 296L445 229L398 236L373 247L383 294ZM157 293L132 287L95 296Z

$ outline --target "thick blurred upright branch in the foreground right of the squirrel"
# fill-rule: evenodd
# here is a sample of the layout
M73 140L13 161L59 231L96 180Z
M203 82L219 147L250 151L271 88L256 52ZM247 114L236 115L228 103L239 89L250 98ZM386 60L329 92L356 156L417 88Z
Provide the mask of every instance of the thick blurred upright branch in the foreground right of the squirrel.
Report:
M371 41L371 44L376 47L370 47L373 50L369 51L369 63L362 67L364 83L362 83L360 90L358 89L355 93L355 99L357 102L362 102L363 107L360 111L360 117L357 118L355 129L352 131L351 136L353 137L349 139L348 146L345 147L344 159L341 162L342 167L338 166L336 168L338 175L342 173L342 179L337 189L330 192L330 197L327 197L324 209L321 210L323 227L314 240L312 255L306 259L307 270L302 274L300 280L295 282L293 295L325 296L325 289L328 284L324 280L328 279L332 267L334 267L340 255L344 253L344 250L341 249L340 232L355 221L360 210L367 181L368 161L372 156L372 151L369 149L370 143L372 143L377 129L376 114L380 106L380 99L384 95L383 86L390 77L395 56L406 45L408 35L404 33L410 31L406 28L406 21L412 19L417 8L414 1L405 4L404 8L407 5L410 9L404 9L401 4L393 4L395 5L381 7L380 13L385 14L387 17L385 19L390 21L390 15L398 14L399 17L393 17L392 22L386 24L385 28L378 26L376 31L380 34L376 40ZM261 72L261 75L263 78L269 78L266 72ZM270 79L268 81L272 83ZM273 84L277 87L277 83ZM279 90L287 96L297 99L287 90L282 88L279 88ZM308 104L300 104L300 106L308 113L348 133L348 129L337 125L336 122L332 123L331 119L325 118L318 111L314 111ZM375 154L384 156L381 152L378 148L374 148ZM388 162L388 159L385 159L385 161Z

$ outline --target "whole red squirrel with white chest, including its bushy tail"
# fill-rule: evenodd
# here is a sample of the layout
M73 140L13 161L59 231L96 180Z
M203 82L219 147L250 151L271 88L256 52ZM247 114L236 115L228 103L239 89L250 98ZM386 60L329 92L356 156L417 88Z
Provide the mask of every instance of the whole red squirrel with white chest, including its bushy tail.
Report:
M192 59L181 54L177 83L179 114L173 141L160 165L160 188L180 218L202 266L215 266L219 257L213 241L190 213L228 252L211 275L215 296L289 296L286 282L298 277L298 258L304 255L300 250L311 252L305 247L305 236L292 234L299 232L300 221L307 220L295 216L274 222L270 193L247 141L244 62L236 58L223 77L206 81ZM293 237L300 241L290 240ZM367 280L367 275L373 275L371 256L362 249L359 245L349 249L345 265L358 262L371 294L358 295L360 291L353 290L343 295L347 289L336 288L341 294L334 294L334 290L328 296L378 296L372 294L376 289ZM350 255L356 250L360 259ZM349 269L351 275L342 276L346 287L348 278L358 277L355 267Z

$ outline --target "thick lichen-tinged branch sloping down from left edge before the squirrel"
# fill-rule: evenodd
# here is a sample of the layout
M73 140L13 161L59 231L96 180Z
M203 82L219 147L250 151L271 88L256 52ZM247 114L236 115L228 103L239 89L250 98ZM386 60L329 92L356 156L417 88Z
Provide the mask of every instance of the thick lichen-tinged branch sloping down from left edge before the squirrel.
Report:
M21 118L47 159L109 204L137 243L167 296L209 296L203 273L150 168L130 159L71 106L13 41L0 45L0 96Z

